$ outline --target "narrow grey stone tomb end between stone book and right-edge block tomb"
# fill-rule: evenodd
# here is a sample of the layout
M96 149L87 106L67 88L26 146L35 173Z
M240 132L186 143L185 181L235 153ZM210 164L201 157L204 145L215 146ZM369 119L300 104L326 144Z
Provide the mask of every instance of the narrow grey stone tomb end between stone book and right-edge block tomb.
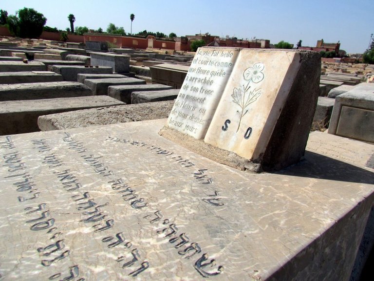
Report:
M316 112L313 117L312 130L323 130L329 127L335 99L318 97Z

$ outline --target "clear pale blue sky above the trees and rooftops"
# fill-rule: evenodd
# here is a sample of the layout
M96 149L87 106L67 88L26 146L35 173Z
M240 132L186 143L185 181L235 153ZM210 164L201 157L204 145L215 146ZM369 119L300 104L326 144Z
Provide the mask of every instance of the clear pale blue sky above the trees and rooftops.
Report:
M106 30L109 23L132 33L147 29L177 36L210 33L239 39L281 40L316 46L317 40L340 41L348 53L362 53L374 33L374 0L0 0L8 15L23 7L47 18L46 25L65 30L68 15L75 27Z

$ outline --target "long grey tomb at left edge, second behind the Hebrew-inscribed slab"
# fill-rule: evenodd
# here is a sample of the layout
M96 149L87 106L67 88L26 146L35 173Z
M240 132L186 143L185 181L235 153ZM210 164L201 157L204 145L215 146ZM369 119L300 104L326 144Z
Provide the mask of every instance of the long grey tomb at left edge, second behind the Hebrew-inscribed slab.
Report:
M89 87L78 82L35 82L0 84L0 101L42 100L92 96Z

